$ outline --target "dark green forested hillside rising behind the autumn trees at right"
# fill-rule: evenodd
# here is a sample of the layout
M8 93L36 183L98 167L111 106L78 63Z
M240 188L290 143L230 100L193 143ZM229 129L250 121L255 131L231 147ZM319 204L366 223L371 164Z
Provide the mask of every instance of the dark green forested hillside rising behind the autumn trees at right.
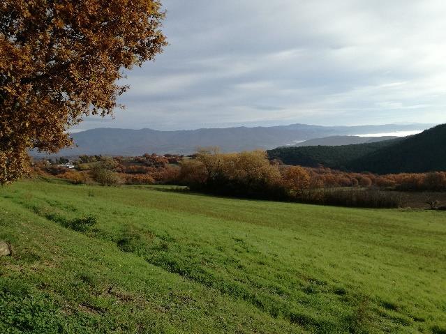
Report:
M377 174L446 171L446 124L418 135L383 142L343 146L279 147L269 158L287 165L323 165Z

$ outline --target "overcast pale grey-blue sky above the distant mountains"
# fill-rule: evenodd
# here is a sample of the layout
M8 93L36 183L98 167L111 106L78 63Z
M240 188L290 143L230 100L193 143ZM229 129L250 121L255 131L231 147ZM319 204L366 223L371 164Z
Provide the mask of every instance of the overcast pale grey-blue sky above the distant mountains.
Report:
M159 130L446 122L445 0L163 0L116 119Z

